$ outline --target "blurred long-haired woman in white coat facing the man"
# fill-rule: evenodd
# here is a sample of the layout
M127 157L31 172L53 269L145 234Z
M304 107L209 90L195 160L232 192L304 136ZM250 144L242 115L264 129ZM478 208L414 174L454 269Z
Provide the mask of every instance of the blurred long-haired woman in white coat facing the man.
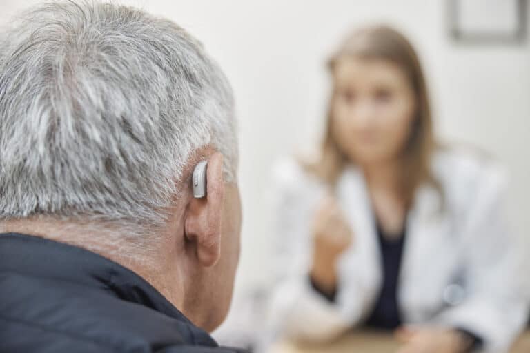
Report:
M523 327L522 248L493 161L433 137L415 50L386 27L329 62L320 156L275 169L273 313L295 339L355 325L396 330L402 352L502 352Z

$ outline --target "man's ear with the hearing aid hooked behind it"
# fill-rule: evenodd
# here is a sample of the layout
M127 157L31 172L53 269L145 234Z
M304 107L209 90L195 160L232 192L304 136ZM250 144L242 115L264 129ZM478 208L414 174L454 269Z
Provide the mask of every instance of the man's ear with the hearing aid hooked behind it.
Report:
M192 196L184 219L186 240L193 243L197 259L205 267L215 265L221 256L223 199L223 155L216 152L208 158L206 197Z

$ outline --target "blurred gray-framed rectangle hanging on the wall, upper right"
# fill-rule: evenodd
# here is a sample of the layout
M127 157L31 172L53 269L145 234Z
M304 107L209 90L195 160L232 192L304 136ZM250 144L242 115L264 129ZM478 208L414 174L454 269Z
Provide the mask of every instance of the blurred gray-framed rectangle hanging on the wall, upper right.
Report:
M448 0L449 30L457 42L521 44L527 38L527 0Z

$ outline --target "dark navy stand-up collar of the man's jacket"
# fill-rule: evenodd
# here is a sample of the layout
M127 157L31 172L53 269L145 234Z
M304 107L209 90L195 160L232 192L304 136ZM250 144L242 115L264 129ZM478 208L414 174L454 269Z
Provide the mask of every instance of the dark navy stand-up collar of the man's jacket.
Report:
M190 328L190 339L195 344L217 346L141 276L94 252L37 236L3 233L0 272L3 271L100 288L183 322Z

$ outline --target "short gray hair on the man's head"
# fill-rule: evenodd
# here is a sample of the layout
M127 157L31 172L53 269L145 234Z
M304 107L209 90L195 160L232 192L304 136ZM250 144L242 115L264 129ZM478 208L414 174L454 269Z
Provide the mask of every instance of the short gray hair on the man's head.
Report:
M162 225L194 152L235 182L233 94L201 43L127 6L52 2L0 41L0 220Z

